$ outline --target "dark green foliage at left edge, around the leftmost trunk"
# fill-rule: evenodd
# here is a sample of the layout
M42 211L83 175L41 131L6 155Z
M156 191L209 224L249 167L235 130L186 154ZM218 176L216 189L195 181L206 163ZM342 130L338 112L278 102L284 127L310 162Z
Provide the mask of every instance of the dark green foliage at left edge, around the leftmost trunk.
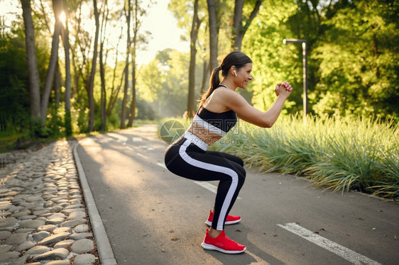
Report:
M24 37L22 18L13 21L1 35L0 131L3 130L5 135L21 135L23 139L48 137L50 132L55 133L56 130L49 130L40 120L31 118ZM47 43L42 38L38 38L36 55L40 79L43 80L49 55Z

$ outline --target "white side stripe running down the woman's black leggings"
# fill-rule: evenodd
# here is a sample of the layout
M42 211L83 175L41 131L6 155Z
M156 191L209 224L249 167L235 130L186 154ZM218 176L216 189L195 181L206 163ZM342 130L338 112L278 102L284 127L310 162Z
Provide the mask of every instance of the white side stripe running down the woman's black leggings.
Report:
M183 142L182 146L179 149L180 157L182 157L182 159L185 162L187 162L187 164L190 164L194 167L200 167L202 169L207 169L209 171L216 171L231 176L231 186L229 188L229 191L227 191L226 198L224 199L224 202L222 204L219 220L217 220L217 230L222 230L224 225L224 217L226 216L227 209L229 209L229 205L231 203L231 200L233 199L234 192L236 191L237 186L239 184L239 175L236 174L236 171L234 171L233 169L229 169L228 167L221 167L216 164L205 163L193 159L186 152L187 147L189 145L190 141L185 140L185 142Z

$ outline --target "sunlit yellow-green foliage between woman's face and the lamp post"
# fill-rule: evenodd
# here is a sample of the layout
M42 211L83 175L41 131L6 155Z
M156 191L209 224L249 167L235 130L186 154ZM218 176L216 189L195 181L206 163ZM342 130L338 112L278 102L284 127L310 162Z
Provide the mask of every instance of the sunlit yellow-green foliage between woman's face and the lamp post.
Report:
M285 21L295 13L295 8L290 1L264 4L244 38L243 52L253 60L253 81L247 89L252 93L253 106L261 111L266 111L273 103L273 91L279 82L289 81L295 88L302 84L302 64L289 60L295 47L283 46L283 39L290 35ZM298 60L297 55L295 59ZM283 113L300 111L301 101L300 89L295 89Z

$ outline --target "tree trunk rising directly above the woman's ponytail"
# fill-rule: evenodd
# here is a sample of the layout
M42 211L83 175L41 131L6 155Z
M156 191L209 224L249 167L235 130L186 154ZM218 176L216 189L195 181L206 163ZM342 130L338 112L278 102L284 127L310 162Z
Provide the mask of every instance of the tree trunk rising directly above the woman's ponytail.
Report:
M217 10L214 0L207 0L209 13L209 66L210 70L216 68L217 63L217 45L219 30L217 26Z

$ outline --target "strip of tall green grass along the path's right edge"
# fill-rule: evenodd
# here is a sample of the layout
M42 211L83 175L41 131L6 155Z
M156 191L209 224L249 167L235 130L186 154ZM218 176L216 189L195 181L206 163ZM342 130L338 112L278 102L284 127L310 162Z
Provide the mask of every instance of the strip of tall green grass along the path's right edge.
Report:
M236 154L263 172L304 176L333 191L357 190L397 200L398 133L392 120L308 118L304 124L291 116L270 129L241 121L239 130L212 150Z

